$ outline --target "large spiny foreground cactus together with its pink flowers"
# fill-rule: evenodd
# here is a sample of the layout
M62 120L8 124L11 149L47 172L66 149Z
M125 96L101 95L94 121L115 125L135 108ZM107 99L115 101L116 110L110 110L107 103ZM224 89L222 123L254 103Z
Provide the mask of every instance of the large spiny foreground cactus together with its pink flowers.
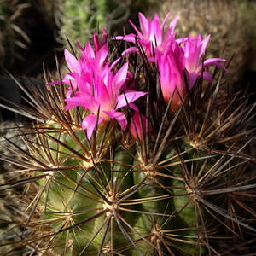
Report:
M253 253L254 105L228 92L225 60L203 56L209 37L139 18L142 32L113 38L111 51L96 34L78 58L66 50L63 79L45 71L43 89L20 84L27 149L6 138L1 156L14 166L1 185L14 210L9 254Z

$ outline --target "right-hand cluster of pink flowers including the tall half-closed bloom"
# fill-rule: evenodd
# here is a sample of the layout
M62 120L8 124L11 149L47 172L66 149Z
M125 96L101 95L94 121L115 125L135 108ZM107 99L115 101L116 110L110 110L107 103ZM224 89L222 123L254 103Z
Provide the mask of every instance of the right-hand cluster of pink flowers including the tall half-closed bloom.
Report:
M154 61L160 72L160 85L166 104L171 102L171 109L177 109L183 98L187 95L197 77L202 77L212 82L212 76L208 73L210 65L223 67L219 62L226 61L221 58L209 59L201 62L201 55L204 54L210 35L204 40L198 35L195 38L175 38L174 29L177 23L175 17L165 30L166 20L160 24L158 15L154 20L149 20L139 13L139 21L142 32L132 23L136 34L116 37L136 44L137 46L126 49L123 55L131 52L139 52L142 48L148 57L148 61ZM130 21L131 22L131 21ZM202 72L202 68L204 71ZM223 67L224 68L224 67ZM226 70L225 70L226 71ZM187 84L185 84L185 81Z

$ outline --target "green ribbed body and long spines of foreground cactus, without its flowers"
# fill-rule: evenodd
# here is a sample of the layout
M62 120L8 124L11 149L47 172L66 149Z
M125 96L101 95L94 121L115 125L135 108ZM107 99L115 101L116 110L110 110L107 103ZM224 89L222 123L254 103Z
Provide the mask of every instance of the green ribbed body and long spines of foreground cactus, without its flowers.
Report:
M119 46L113 55L111 63ZM17 127L26 149L6 138L12 154L1 154L14 166L0 187L2 198L15 197L6 202L15 209L17 235L14 241L4 234L4 243L14 245L8 253L20 247L54 256L254 253L255 137L245 125L255 118L255 104L247 105L246 94L224 94L220 73L212 82L199 76L177 111L169 111L157 68L144 55L129 58L133 88L147 92L136 102L145 116L139 125L137 109L122 108L135 135L116 119L97 125L99 109L89 138L84 108L65 110L72 83L41 89L17 82L32 108L16 104L30 119Z

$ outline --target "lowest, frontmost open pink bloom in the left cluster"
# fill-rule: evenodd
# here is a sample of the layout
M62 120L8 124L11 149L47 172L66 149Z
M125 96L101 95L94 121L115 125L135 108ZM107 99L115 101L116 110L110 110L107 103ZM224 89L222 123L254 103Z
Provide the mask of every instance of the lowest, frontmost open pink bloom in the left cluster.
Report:
M87 136L90 139L96 125L97 113L99 112L99 125L103 120L116 119L122 130L127 126L125 114L119 112L119 108L129 105L130 108L138 111L132 103L146 93L135 90L125 90L120 94L120 88L125 84L128 73L128 63L115 74L109 69L104 76L90 77L87 83L77 83L78 90L74 96L67 98L66 110L81 106L84 110L89 109L90 114L85 116L82 128L87 129ZM86 79L85 79L86 80ZM90 85L90 86L89 86ZM88 90L90 88L90 90Z

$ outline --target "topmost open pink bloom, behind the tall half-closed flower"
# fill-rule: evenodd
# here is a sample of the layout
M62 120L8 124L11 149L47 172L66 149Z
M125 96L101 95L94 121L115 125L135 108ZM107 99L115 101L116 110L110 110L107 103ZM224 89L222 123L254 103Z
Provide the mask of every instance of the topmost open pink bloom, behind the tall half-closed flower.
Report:
M154 15L154 20L149 20L143 14L139 13L139 21L142 32L139 32L137 27L130 21L131 26L135 29L137 34L125 35L124 37L116 37L117 40L125 40L133 44L139 44L143 47L144 52L148 57L153 56L153 48L160 47L161 44L165 43L174 36L173 31L177 23L177 17L175 17L169 24L165 31L166 20L170 13L166 15L165 20L160 24L158 15ZM131 47L126 49L123 55L137 51L137 47Z

